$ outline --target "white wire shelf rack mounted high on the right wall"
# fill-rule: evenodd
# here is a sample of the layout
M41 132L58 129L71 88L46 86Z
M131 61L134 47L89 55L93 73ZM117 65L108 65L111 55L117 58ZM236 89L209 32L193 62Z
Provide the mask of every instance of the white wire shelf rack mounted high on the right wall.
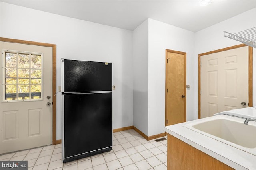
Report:
M256 48L256 27L234 34L224 31L224 37L240 41L246 45Z

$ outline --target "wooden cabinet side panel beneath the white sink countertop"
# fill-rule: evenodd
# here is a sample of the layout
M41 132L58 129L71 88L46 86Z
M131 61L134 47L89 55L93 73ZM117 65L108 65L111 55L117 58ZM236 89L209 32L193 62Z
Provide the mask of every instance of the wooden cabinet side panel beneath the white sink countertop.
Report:
M167 170L233 170L233 168L168 134Z

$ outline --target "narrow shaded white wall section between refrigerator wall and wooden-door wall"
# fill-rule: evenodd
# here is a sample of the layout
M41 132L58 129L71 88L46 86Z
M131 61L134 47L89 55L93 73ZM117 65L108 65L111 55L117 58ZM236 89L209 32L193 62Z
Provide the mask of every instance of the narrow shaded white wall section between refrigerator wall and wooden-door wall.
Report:
M148 135L148 20L133 31L133 125Z

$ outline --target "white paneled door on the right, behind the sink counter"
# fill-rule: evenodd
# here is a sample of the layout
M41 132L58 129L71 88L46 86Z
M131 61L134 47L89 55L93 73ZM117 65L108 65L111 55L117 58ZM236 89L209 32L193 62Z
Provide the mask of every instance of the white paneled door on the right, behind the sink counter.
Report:
M247 46L204 55L200 61L201 118L248 106Z

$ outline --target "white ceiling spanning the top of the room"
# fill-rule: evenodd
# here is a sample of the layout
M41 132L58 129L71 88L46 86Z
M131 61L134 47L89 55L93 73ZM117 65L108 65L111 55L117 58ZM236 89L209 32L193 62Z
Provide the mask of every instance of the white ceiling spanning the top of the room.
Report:
M0 0L36 10L134 30L147 18L197 32L252 8L256 0Z

